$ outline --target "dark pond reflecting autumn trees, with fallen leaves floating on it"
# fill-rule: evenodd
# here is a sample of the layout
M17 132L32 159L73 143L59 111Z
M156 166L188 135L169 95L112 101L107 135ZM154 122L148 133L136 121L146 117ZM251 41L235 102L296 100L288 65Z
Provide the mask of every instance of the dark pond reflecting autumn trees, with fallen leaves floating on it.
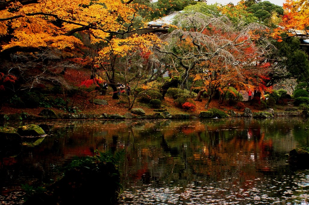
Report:
M309 145L307 118L40 123L53 125L43 141L0 158L0 204L22 203L21 184L50 183L94 150L125 150L121 205L309 204L309 170L287 162Z

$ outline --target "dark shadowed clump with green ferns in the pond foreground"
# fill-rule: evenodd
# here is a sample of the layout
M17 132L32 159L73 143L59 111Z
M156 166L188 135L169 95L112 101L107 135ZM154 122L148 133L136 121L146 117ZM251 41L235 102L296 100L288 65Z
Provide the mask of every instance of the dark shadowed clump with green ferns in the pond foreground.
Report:
M63 177L44 187L22 185L25 205L115 204L121 193L118 163L123 152L95 152L95 156L74 158Z

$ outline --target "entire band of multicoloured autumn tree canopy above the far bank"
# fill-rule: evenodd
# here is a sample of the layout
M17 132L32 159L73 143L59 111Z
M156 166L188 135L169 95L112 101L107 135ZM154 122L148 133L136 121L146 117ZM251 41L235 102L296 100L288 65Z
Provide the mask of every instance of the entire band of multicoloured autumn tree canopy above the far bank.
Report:
M150 20L177 10L183 13L168 34L147 28ZM270 91L284 78L308 77L297 40L281 52L290 36L308 34L308 13L304 0L288 0L283 8L268 1L234 6L191 0L5 0L0 2L0 89L11 97L45 89L47 82L62 93L108 82L119 99L118 81L134 89L151 82L147 89L160 91L155 84L164 83L168 66L180 79L174 86L204 90L209 100L229 87ZM294 62L301 62L298 74L288 62L292 53L298 56Z

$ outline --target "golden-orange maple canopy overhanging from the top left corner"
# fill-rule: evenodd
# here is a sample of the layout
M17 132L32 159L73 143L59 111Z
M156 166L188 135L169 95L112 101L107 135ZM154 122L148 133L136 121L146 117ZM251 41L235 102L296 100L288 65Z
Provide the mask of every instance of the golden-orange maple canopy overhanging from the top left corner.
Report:
M29 3L30 2L30 3ZM138 11L145 6L121 0L41 0L0 3L0 50L18 47L73 48L78 31L89 33L92 43L129 36L143 27L134 27ZM141 25L144 26L144 25ZM118 36L117 36L118 35ZM6 38L4 38L6 37ZM10 38L8 38L10 37Z

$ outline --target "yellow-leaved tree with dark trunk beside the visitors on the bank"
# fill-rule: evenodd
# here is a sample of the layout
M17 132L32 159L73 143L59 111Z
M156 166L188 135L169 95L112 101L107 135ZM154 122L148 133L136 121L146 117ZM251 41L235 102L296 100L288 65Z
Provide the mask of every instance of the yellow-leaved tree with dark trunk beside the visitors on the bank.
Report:
M140 84L141 79L148 74L143 65L149 59L152 48L160 47L161 41L157 35L150 33L132 35L126 39L112 39L108 43L109 47L99 51L97 63L106 73L114 91L113 98L118 99L116 85L119 78L125 79L125 82L120 83L127 84L136 79L137 84Z

